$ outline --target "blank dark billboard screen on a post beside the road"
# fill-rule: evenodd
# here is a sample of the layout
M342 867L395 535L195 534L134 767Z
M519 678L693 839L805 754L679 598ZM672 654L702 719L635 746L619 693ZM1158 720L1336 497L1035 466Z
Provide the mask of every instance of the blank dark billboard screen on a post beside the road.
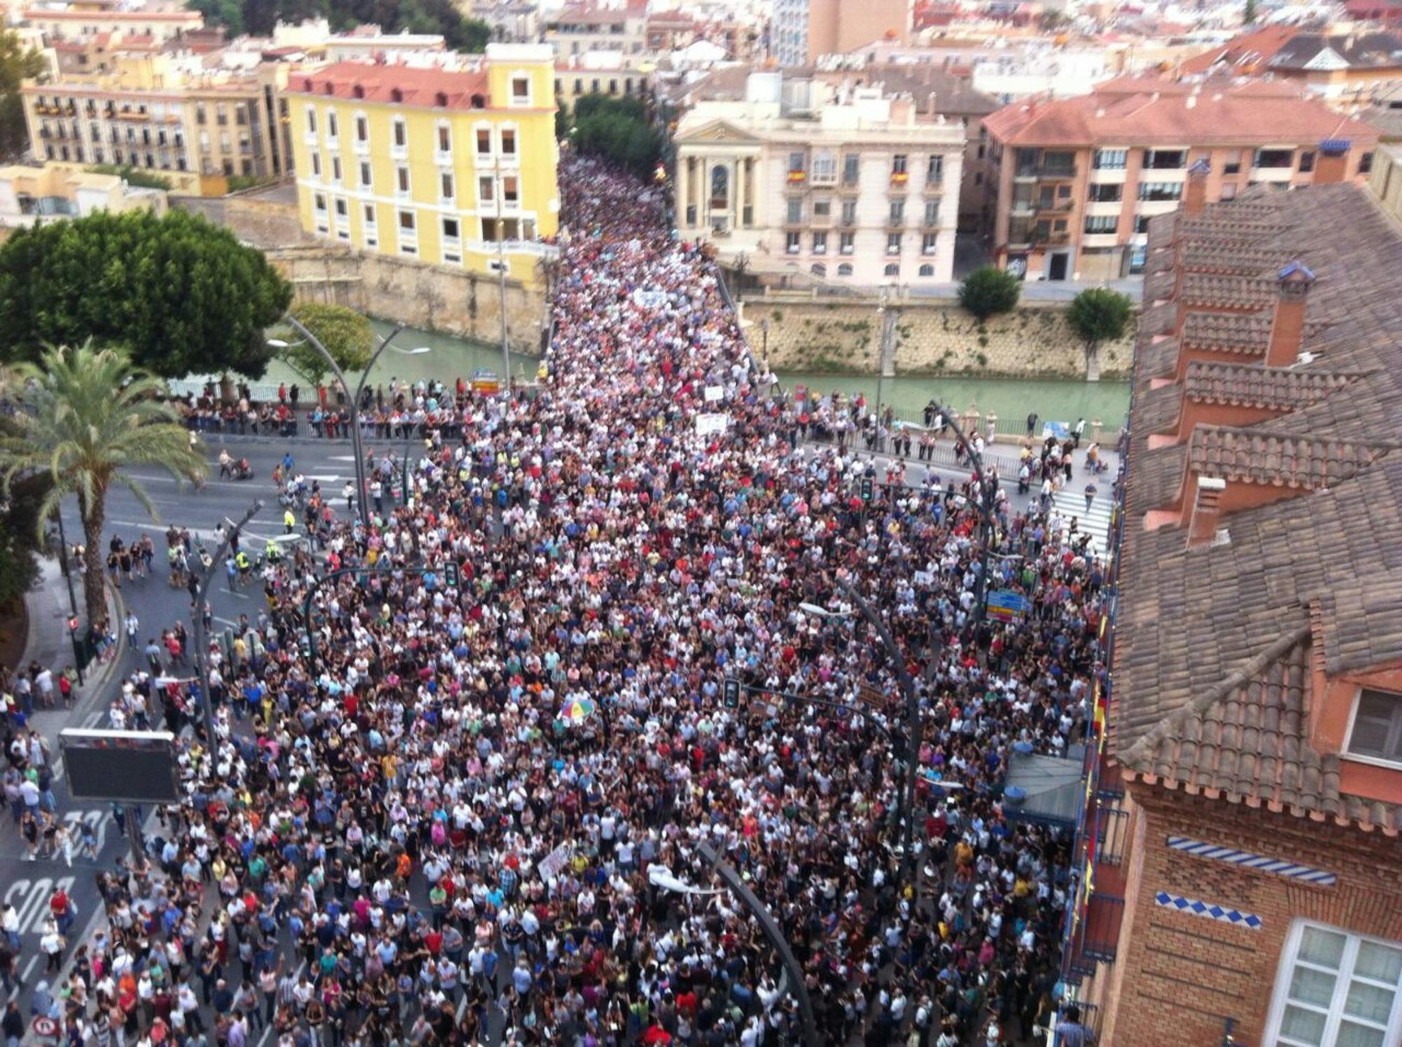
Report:
M69 795L81 800L177 803L175 736L165 730L62 730Z

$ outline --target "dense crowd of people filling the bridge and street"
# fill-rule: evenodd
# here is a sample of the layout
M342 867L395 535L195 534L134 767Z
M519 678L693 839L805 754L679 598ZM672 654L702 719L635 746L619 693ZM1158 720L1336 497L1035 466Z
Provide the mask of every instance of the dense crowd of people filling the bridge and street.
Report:
M1004 779L1085 730L1101 565L1054 509L796 439L662 191L579 158L561 191L537 390L443 391L407 484L369 463L369 531L338 506L264 563L210 652L213 747L160 645L123 684L123 723L189 725L188 799L48 990L74 1043L801 1043L702 842L830 1043L1018 1043L1047 1011L1071 841Z

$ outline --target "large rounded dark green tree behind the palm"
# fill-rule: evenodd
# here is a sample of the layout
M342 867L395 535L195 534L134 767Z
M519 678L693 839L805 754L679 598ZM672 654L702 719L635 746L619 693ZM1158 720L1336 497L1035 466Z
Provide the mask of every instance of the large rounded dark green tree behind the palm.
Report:
M261 251L185 212L97 212L0 247L0 360L94 339L164 377L261 377L264 329L292 301Z

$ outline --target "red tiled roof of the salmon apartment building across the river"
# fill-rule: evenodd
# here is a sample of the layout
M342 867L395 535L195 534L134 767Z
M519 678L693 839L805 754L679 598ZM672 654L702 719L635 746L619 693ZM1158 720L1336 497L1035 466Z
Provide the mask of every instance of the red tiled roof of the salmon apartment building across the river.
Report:
M1014 102L984 118L1005 146L1061 149L1115 146L1274 144L1347 139L1371 146L1378 132L1340 116L1284 83L1211 84L1193 93L1171 80L1112 81L1106 93L1052 102Z

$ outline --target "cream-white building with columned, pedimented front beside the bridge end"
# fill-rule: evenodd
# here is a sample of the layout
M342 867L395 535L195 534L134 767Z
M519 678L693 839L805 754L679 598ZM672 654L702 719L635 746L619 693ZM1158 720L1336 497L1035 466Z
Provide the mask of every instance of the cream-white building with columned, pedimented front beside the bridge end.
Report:
M673 140L677 226L722 261L854 287L953 276L965 129L910 95L751 73Z

